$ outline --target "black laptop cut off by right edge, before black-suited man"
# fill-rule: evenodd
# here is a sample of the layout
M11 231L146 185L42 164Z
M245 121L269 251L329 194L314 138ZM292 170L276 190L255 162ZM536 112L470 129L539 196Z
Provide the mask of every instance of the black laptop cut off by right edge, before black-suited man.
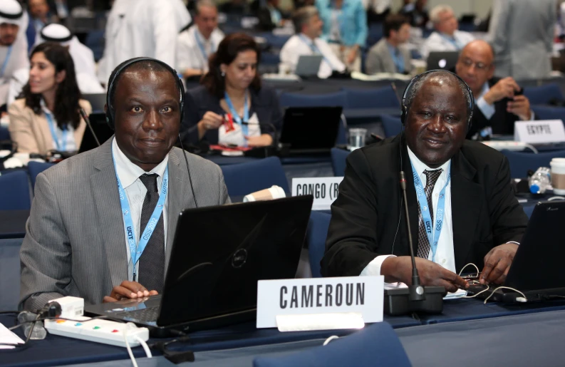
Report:
M522 242L518 247L503 286L521 291L528 301L539 301L565 296L565 201L539 202ZM479 294L487 298L497 285ZM486 289L484 285L470 285L469 294ZM515 291L499 289L489 300L504 303L516 302L522 297Z

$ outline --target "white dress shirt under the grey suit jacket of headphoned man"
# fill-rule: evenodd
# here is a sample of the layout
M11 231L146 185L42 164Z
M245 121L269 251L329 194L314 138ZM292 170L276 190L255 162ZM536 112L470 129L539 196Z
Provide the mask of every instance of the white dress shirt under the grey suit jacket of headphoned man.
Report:
M118 143L116 143L115 138L112 142L112 152L115 160L115 168L118 177L120 177L120 182L122 182L123 188L125 190L125 196L128 197L128 202L130 204L130 212L133 222L133 233L135 235L136 243L139 244L140 239L140 230L141 225L141 210L143 207L143 200L145 200L145 194L147 194L147 188L139 177L141 175L157 174L157 190L161 190L161 185L163 182L163 175L165 175L165 168L169 162L169 155L165 156L165 159L162 160L155 168L150 170L150 172L145 172L142 170L141 167L133 163L125 156L125 154L120 150L118 147ZM167 199L165 200L165 205L163 206L163 227L165 229L165 247L167 246L167 207L169 202L169 195L167 195ZM133 280L133 262L131 259L130 247L128 245L128 234L125 233L125 220L124 220L124 239L125 239L125 247L126 253L128 254L128 280ZM135 264L135 274L139 274L139 262Z

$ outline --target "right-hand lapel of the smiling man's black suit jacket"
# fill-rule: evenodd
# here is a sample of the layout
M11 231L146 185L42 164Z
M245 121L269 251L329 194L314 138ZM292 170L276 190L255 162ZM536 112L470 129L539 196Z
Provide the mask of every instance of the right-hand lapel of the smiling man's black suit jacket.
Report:
M482 187L473 182L475 167L457 153L451 165L451 218L455 267L461 269L470 252L482 206Z

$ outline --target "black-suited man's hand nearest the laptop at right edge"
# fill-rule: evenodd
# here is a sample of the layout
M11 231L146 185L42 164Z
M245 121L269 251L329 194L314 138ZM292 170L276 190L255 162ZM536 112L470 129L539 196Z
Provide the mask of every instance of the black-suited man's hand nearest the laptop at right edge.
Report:
M501 244L490 250L484 257L484 268L482 268L479 281L481 284L502 284L506 279L514 255L518 250L517 244Z

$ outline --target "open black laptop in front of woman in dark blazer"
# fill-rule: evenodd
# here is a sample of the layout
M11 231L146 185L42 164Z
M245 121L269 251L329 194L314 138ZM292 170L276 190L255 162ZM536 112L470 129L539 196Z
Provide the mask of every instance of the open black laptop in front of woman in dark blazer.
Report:
M289 107L284 113L280 143L291 155L330 153L336 146L342 107Z

